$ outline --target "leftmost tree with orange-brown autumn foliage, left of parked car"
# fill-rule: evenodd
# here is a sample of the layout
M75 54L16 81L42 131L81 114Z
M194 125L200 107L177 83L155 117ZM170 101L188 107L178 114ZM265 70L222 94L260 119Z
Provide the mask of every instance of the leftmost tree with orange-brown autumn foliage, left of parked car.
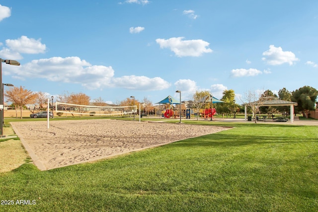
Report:
M22 119L22 110L26 104L36 102L37 93L20 87L10 87L4 94L7 99L20 109L20 118Z

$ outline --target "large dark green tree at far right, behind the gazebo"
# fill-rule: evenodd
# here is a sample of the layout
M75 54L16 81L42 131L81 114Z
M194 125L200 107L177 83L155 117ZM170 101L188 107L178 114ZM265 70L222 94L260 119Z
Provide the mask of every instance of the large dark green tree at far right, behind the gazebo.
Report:
M304 86L292 92L291 99L297 102L296 108L308 118L309 111L315 110L315 103L318 96L318 90L311 86Z

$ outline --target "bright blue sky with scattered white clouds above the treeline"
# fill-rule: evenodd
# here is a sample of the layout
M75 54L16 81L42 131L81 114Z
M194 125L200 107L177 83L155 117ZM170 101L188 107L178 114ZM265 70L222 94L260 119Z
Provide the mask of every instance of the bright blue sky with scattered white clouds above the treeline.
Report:
M2 82L153 103L318 89L317 0L0 0Z

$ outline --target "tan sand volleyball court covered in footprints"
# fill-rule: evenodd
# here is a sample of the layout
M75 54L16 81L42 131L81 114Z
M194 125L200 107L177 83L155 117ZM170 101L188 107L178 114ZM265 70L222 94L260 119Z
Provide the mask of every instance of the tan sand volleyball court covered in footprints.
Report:
M119 120L12 122L35 165L48 170L137 151L228 128Z

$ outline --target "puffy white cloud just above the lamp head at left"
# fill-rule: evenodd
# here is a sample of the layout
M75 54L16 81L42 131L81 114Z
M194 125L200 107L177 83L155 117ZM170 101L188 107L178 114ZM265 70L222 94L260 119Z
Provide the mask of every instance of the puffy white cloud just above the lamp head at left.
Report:
M46 51L46 46L41 43L41 39L35 40L23 35L16 40L5 40L5 45L6 47L0 50L0 57L12 60L23 59L21 54L39 54Z

